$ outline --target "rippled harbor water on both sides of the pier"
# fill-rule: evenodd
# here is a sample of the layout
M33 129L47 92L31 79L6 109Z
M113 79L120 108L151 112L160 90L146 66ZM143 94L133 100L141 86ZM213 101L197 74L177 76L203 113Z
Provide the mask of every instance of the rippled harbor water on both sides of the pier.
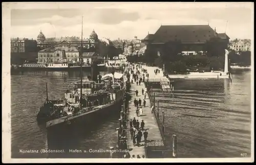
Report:
M84 72L84 79L89 74ZM179 79L174 82L174 99L154 88L160 110L165 110L168 148L172 148L172 134L176 134L178 157L241 157L242 153L249 157L250 75L250 70L233 73L232 83L224 79ZM49 157L48 154L23 153L20 150L40 151L47 148L46 130L36 122L39 106L46 99L46 82L49 98L54 99L55 96L55 99L60 99L68 85L79 80L79 76L79 72L23 72L11 75L12 158ZM119 114L106 117L103 121L96 120L95 124L84 126L87 131L67 143L74 142L73 149L77 150L115 147L118 118ZM67 156L108 158L110 155L101 152L67 153Z

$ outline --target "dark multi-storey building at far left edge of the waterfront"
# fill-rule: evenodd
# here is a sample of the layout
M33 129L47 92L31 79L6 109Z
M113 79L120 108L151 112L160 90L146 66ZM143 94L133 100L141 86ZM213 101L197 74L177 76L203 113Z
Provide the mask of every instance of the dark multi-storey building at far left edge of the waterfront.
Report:
M11 53L36 52L36 40L28 38L11 38Z

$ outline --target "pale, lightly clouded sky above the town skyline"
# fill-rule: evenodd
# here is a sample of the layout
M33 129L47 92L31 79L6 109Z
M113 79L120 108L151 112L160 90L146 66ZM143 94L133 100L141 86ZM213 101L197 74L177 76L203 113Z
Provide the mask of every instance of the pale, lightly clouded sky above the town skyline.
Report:
M12 3L11 37L145 38L161 25L208 25L231 38L253 37L252 3Z

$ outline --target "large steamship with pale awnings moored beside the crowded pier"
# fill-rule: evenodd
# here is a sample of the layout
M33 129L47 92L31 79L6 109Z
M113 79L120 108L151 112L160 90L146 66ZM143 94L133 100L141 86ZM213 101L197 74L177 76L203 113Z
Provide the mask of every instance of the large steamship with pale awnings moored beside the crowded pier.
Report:
M64 100L50 101L47 96L37 114L39 124L46 123L47 128L70 126L91 113L116 109L125 93L124 76L120 73L101 76L95 65L87 81L69 84Z

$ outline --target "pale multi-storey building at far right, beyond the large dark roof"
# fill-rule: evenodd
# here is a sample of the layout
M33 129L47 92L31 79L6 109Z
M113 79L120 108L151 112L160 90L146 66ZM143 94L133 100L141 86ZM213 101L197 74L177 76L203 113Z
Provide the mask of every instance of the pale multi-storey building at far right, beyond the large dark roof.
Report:
M250 39L234 39L229 43L229 49L240 53L243 51L251 51L251 40Z

